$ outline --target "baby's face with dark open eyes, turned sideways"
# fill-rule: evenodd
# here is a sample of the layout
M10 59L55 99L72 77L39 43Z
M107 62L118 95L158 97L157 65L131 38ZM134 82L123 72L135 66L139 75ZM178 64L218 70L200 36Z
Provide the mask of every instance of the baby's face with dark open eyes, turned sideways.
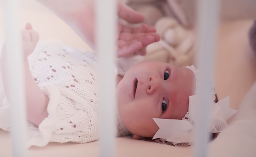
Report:
M153 118L182 119L194 86L194 73L187 68L155 61L135 64L117 85L120 118L131 133L153 137L158 130Z

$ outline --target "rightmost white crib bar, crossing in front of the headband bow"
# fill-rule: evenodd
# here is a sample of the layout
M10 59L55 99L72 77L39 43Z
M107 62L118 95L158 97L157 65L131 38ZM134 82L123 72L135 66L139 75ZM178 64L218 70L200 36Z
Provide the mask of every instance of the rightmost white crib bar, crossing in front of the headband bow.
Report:
M216 37L219 17L219 0L198 0L198 68L199 106L198 122L195 125L194 157L207 157L210 134L211 93L213 83L213 61L216 50Z

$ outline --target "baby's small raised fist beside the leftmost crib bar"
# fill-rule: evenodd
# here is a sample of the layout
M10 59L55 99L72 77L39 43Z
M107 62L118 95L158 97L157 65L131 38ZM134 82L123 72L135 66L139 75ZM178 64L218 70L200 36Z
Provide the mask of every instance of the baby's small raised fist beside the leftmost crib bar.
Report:
M27 23L25 29L21 31L22 35L22 48L24 53L24 59L34 51L36 44L39 40L39 35L36 31L32 29L30 23Z

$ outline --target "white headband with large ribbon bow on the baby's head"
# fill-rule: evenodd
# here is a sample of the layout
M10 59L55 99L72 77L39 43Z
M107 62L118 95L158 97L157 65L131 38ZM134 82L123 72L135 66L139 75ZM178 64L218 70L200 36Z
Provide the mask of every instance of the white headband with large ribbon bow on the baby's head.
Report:
M196 84L198 82L198 74L195 67L192 65L186 67L192 70L195 74ZM214 86L213 86L214 87ZM210 133L219 133L227 127L226 120L234 115L237 110L229 108L229 97L223 98L222 100L215 103L215 89L211 88L212 91L212 102L211 107L211 125ZM159 130L155 133L153 139L162 138L168 142L172 142L175 146L188 146L192 143L193 137L193 124L196 123L197 105L198 105L198 87L195 87L195 95L189 96L189 111L186 113L182 120L172 119L159 119L153 118Z

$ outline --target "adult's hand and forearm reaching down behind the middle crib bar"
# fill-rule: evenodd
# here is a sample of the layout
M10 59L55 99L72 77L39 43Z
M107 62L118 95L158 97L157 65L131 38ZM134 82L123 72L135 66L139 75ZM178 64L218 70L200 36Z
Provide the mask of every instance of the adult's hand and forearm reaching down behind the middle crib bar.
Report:
M66 22L92 49L95 49L94 0L37 0ZM117 0L117 15L128 23L143 22L144 16ZM159 41L155 28L143 25L132 28L118 24L118 57L145 55L146 46Z

